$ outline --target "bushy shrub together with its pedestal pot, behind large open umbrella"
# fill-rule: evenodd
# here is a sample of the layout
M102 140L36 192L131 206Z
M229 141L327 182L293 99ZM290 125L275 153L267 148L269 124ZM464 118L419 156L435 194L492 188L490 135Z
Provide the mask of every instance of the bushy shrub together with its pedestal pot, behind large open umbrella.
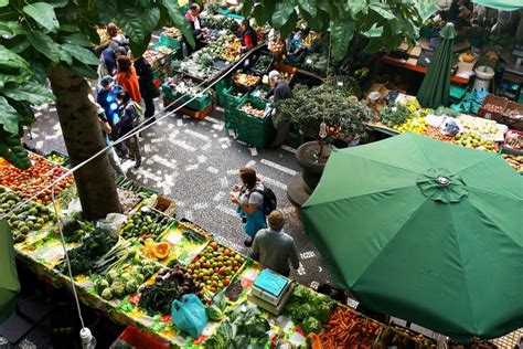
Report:
M296 85L292 97L277 105L280 117L291 120L306 137L317 141L299 147L296 159L303 169L309 193L318 184L334 140L352 146L365 134L371 109L357 101L357 83L350 77L331 77L308 88Z

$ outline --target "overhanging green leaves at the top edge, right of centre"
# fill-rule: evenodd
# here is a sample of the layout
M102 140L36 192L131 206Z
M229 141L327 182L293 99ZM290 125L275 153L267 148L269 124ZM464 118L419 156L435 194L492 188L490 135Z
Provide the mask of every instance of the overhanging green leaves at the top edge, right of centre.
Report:
M258 24L268 22L290 33L298 17L314 31L332 35L332 59L341 61L349 52L355 35L377 28L382 35L372 38L366 52L394 50L402 40L412 42L421 25L416 2L413 0L262 0L244 8Z

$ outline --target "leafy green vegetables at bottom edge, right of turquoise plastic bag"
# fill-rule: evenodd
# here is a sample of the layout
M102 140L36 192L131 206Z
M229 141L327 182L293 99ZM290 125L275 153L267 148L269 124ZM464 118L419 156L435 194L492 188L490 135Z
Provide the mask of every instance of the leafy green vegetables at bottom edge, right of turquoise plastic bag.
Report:
M216 332L205 341L209 349L264 348L269 340L269 322L247 303L236 306Z

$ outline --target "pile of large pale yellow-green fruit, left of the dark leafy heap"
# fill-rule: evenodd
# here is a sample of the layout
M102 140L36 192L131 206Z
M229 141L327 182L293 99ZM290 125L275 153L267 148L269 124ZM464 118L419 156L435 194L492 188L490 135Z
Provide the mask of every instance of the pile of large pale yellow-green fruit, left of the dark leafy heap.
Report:
M140 260L136 250L130 250L118 263L96 283L96 292L104 299L136 294L138 287L160 268L157 263Z

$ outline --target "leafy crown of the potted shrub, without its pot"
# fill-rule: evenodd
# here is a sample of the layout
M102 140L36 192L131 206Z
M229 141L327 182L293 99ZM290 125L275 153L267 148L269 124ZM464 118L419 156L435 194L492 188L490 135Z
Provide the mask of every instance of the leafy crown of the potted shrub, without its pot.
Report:
M320 124L340 129L342 137L355 137L365 133L364 123L371 112L362 102L353 102L350 95L359 92L357 82L351 77L332 77L324 84L308 88L296 85L292 98L278 104L284 119L290 119L308 137L318 138Z

